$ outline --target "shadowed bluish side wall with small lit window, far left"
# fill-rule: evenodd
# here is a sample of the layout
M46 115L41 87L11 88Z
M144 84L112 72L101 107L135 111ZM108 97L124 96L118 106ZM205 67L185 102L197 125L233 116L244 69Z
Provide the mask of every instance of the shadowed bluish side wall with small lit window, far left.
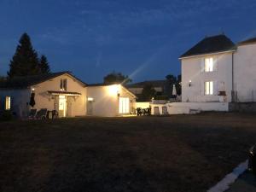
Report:
M30 101L29 89L0 89L1 110L5 109L5 96L11 97L11 111L18 117L25 117L29 112L28 103Z

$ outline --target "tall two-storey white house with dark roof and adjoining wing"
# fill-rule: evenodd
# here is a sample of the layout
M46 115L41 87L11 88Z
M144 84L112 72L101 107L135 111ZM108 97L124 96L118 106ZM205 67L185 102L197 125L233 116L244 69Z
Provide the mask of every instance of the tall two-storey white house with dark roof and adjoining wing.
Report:
M224 34L207 37L180 56L182 103L172 107L229 110L256 101L256 38L234 44Z

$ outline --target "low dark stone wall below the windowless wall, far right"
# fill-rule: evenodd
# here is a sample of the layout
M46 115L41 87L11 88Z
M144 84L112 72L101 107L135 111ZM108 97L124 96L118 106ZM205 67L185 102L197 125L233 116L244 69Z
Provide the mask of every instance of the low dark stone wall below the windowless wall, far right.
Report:
M256 113L256 102L230 102L229 111Z

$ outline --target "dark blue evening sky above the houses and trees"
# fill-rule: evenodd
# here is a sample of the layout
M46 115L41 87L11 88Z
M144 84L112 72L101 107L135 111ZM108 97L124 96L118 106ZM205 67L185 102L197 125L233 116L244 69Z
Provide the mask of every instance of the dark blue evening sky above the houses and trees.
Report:
M201 38L256 36L255 0L0 0L0 74L23 32L53 71L87 83L113 70L134 81L180 73L178 56Z

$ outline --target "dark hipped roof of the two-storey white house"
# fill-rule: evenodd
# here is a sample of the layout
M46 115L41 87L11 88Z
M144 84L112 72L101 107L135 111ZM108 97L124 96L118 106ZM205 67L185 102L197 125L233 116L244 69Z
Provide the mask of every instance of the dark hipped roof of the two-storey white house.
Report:
M222 34L202 39L201 42L195 44L194 47L181 55L180 58L229 50L236 50L236 45L230 40L230 38L227 38L225 35Z

